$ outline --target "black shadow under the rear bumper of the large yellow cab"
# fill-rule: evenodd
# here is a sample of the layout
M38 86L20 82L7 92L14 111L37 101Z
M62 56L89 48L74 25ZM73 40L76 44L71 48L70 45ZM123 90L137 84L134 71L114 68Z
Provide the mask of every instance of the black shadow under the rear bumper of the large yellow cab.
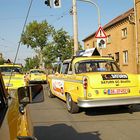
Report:
M132 108L125 106L111 106L111 107L98 107L98 108L87 108L83 109L86 115L96 116L96 115L109 115L109 114L123 114L133 112L140 112L140 105L134 105Z

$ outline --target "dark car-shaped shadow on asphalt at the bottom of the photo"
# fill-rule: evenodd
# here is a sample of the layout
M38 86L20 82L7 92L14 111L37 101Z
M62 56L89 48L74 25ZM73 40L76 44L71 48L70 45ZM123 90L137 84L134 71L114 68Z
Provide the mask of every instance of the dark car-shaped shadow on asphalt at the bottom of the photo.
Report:
M97 132L79 133L66 124L35 126L34 136L38 140L101 140Z

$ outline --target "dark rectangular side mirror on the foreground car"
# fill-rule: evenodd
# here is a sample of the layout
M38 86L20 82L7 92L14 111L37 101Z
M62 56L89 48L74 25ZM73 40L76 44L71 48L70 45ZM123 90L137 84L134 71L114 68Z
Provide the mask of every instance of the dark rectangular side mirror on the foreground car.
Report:
M18 88L19 104L39 103L44 101L43 86L32 85Z

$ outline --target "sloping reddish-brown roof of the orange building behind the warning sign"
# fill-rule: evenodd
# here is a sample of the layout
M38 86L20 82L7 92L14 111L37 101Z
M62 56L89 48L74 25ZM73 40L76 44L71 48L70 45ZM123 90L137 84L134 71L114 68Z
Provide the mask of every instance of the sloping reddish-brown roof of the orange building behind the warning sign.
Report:
M120 22L120 21L122 21L122 20L128 18L128 16L129 16L131 13L133 13L133 12L134 12L134 8L129 9L127 12L125 12L125 13L119 15L118 17L114 18L114 19L111 20L109 23L107 23L105 26L103 26L103 29L105 30L105 29L107 29L107 28L109 28L109 27L111 27L111 26L117 24L118 22ZM95 36L95 34L96 34L96 32L94 32L93 34L87 36L87 37L86 37L85 39L83 39L82 41L85 41L85 40L89 39L90 37Z

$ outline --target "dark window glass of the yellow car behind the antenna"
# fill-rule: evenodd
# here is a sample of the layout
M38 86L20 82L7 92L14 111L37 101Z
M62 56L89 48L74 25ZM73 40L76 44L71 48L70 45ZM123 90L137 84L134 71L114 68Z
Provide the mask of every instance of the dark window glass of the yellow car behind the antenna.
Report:
M16 67L16 66L3 66L3 67L0 67L0 72L2 73L10 73L10 72L14 72L14 73L23 73L22 72L22 68L20 67Z

